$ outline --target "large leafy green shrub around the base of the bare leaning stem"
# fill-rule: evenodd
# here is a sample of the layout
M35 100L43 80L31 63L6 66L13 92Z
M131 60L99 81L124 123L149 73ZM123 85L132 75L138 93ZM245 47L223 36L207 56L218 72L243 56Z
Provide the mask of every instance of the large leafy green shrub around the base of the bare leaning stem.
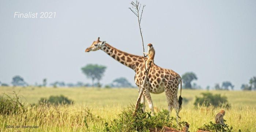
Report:
M133 132L149 131L150 128L172 127L178 129L174 117L170 117L168 110L162 110L151 116L151 112L143 112L142 104L139 105L135 116L132 115L134 105L125 108L117 118L111 121L111 124L105 123L104 131L109 132ZM186 122L180 122L179 125L185 125Z

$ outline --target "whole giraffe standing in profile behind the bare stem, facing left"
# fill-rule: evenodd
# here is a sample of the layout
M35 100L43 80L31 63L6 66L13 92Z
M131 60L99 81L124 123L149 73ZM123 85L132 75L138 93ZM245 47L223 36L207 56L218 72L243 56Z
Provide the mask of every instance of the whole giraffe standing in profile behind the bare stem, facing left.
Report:
M116 59L118 62L123 65L130 67L135 71L134 81L135 84L139 87L142 85L145 78L145 63L144 58L138 55L132 55L125 53L117 48L110 46L105 41L101 42L99 38L91 44L90 47L86 48L85 52L103 50L110 57ZM147 58L145 58L147 60ZM142 70L141 70L142 67ZM154 71L153 71L154 70ZM142 72L141 72L142 71ZM140 79L141 75L141 79ZM155 76L155 78L154 78ZM143 92L141 103L143 105L143 111L145 111L145 99L147 100L148 106L154 113L154 106L150 96L150 93L159 94L165 92L169 112L172 112L172 109L175 108L178 113L181 109L182 98L180 96L179 100L177 98L178 85L182 84L181 77L179 74L173 70L164 69L154 64L154 69L150 69L148 72L148 78L146 81L146 86ZM180 91L181 92L181 91Z

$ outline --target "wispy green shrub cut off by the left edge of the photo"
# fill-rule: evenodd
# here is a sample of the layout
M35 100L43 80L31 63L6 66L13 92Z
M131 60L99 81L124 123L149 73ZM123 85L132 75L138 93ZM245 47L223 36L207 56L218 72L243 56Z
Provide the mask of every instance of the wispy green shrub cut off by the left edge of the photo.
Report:
M19 101L19 97L15 92L13 93L13 98L7 94L0 96L0 114L17 114L24 110L24 105Z

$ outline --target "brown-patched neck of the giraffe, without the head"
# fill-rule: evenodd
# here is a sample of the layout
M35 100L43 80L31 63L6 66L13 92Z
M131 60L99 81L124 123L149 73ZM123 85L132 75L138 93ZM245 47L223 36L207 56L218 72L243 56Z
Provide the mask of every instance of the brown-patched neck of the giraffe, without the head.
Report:
M102 46L101 50L105 51L105 53L107 53L110 57L114 58L123 65L130 67L133 70L136 70L139 64L143 62L142 56L125 53L110 46L107 43Z

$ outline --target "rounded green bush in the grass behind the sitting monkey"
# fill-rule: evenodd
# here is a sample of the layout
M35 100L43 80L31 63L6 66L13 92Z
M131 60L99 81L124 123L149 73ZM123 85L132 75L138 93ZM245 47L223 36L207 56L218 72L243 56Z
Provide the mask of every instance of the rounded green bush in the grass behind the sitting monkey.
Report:
M197 97L194 102L194 105L197 106L198 104L200 106L214 106L214 107L225 107L229 108L230 105L227 102L226 96L221 96L221 94L212 94L212 93L201 93L203 97Z

